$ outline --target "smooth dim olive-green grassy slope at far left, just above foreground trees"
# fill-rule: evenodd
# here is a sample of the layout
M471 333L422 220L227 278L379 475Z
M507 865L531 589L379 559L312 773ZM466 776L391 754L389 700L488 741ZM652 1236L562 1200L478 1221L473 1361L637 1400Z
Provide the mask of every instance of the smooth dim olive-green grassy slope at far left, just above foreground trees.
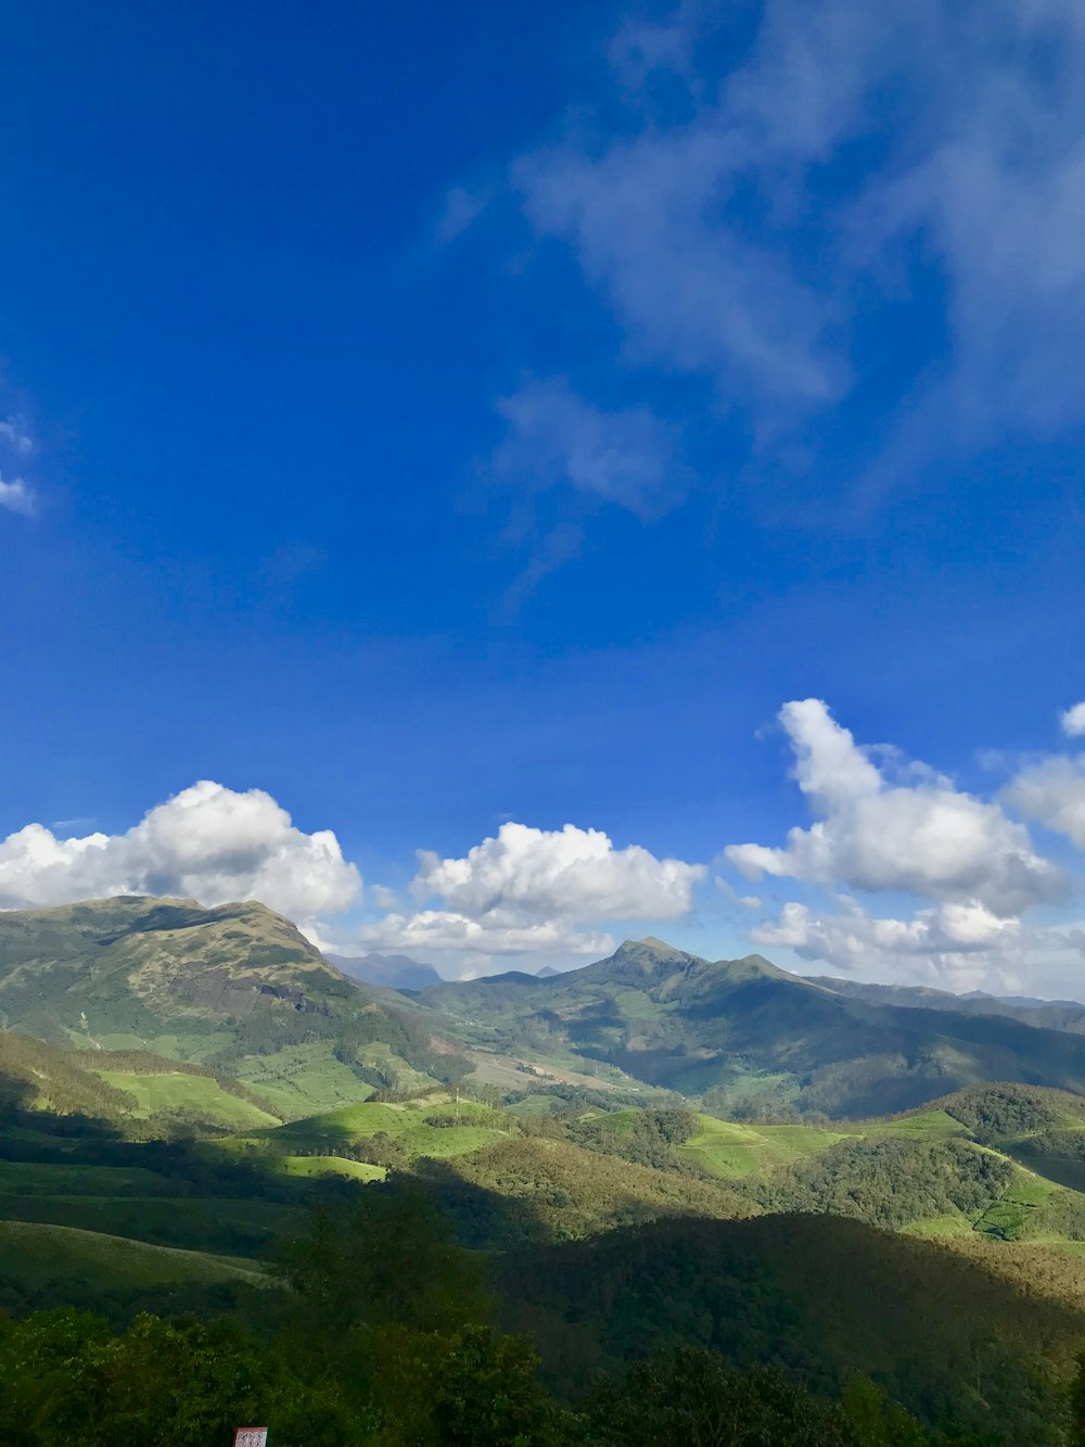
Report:
M25 1286L77 1278L103 1291L178 1282L260 1283L266 1279L252 1262L230 1256L27 1221L0 1221L0 1278Z

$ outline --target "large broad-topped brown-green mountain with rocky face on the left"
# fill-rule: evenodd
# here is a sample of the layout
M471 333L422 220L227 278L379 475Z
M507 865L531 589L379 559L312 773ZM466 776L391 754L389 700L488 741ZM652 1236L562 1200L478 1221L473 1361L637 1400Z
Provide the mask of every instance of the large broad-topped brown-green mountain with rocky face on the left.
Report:
M435 1084L457 1058L434 1051L411 1013L401 997L376 1001L255 901L119 897L0 913L0 1026L210 1062L279 1114Z

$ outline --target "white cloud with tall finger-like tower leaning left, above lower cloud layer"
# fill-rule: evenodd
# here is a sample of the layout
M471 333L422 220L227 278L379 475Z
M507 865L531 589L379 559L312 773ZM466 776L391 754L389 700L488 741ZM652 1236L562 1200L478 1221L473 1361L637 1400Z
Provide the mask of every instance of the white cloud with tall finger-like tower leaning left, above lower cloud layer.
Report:
M791 829L786 848L729 845L726 858L748 878L978 901L1003 919L1059 894L1060 871L998 805L922 765L909 771L914 783L891 784L820 699L786 703L780 721L799 787L819 818Z

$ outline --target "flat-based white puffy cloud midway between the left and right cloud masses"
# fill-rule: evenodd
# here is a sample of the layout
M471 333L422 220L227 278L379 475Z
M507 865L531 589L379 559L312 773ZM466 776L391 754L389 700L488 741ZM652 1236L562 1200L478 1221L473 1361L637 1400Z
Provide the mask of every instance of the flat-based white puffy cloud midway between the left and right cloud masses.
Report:
M503 823L461 858L420 851L414 915L389 915L363 930L398 949L599 955L613 948L605 920L680 919L693 907L705 865L624 849L600 829L532 829ZM587 926L587 928L586 928Z

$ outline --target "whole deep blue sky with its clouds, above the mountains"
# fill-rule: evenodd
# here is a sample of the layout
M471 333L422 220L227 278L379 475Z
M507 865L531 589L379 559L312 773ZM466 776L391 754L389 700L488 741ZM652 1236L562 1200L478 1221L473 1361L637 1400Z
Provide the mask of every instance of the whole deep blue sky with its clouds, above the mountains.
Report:
M1071 0L10 7L0 904L1079 993L1082 64Z

